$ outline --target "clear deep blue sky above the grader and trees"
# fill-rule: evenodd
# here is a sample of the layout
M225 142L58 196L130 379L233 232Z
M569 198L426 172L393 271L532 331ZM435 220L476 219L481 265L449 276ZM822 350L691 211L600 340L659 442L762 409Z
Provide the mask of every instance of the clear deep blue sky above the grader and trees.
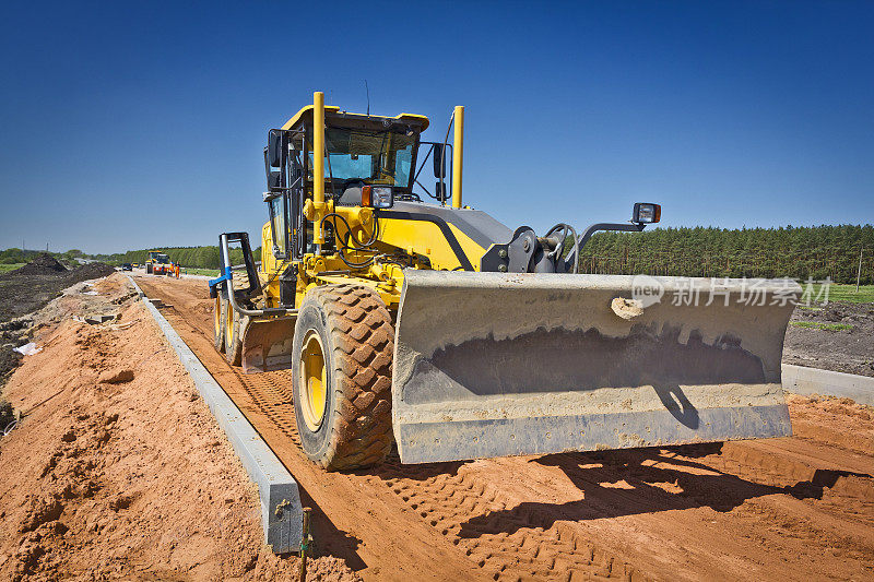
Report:
M63 2L0 20L0 248L258 237L262 146L464 105L465 203L511 227L865 224L871 2Z

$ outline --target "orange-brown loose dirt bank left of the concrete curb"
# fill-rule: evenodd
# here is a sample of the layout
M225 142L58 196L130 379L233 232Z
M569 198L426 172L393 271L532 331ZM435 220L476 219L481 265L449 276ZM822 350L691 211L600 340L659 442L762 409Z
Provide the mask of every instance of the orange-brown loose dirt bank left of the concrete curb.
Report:
M188 373L115 274L31 316L43 347L5 387L0 580L296 580ZM115 312L103 324L81 321ZM308 580L357 580L336 558Z

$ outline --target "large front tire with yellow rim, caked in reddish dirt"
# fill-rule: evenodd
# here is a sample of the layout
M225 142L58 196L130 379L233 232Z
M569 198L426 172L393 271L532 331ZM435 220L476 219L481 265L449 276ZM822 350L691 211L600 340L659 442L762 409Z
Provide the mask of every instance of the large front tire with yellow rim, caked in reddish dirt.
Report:
M367 467L391 450L394 330L376 292L326 285L307 293L292 344L300 446L328 471Z

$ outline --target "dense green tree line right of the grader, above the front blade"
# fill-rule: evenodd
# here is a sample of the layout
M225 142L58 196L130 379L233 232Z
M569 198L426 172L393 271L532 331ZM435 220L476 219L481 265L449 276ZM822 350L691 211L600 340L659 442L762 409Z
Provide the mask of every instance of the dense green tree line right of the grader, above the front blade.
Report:
M874 284L874 226L599 233L580 253L581 273L704 277L791 277Z

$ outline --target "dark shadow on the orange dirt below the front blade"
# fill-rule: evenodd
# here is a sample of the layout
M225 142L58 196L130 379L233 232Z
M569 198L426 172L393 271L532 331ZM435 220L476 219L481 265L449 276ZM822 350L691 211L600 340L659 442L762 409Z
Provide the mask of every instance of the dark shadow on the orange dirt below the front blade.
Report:
M834 486L838 478L855 475L820 470L811 480L776 487L742 479L693 460L713 454L720 447L721 443L716 443L563 453L532 460L532 463L560 468L584 499L566 503L522 502L513 508L488 512L462 523L459 536L512 534L527 527L547 530L556 521L587 521L701 507L728 512L748 499L773 494L791 495L796 499L822 499L824 490ZM672 456L673 451L680 452L683 459ZM670 466L648 464L654 462Z

